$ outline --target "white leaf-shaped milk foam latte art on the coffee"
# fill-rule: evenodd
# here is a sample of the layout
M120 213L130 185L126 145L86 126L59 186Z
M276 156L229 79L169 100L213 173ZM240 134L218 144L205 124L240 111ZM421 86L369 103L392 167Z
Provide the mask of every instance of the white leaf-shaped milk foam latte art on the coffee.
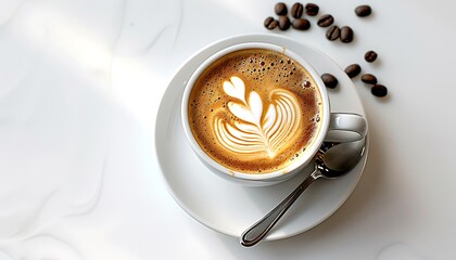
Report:
M279 88L271 91L265 110L264 101L258 93L251 91L246 98L242 79L231 77L223 87L226 94L236 99L228 102L228 109L240 120L229 123L216 118L214 130L219 143L240 155L266 152L269 158L275 158L302 120L294 94Z

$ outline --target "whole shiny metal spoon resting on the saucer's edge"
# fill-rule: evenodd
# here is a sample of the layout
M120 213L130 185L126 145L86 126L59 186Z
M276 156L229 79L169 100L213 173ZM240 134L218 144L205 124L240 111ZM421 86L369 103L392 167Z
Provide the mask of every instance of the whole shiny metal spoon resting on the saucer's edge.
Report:
M363 157L365 143L363 139L350 143L324 144L316 155L314 172L276 208L245 230L240 238L241 245L251 247L259 243L314 181L320 178L337 179L353 169Z

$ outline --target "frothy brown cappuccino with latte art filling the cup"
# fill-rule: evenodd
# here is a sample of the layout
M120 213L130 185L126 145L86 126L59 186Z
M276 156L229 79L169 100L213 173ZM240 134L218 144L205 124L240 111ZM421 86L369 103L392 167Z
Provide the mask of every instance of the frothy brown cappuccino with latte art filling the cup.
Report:
M283 53L244 49L201 73L188 102L199 146L231 171L284 169L315 142L322 98L309 73Z

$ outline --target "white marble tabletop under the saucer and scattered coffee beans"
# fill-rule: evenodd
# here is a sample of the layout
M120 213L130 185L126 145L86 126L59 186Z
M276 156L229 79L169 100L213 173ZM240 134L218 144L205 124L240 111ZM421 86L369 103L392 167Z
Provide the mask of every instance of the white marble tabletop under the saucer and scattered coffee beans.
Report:
M294 1L286 1L291 6ZM456 259L456 4L318 0L356 32L267 31L275 1L1 0L0 259ZM354 8L369 3L365 20ZM154 150L167 83L193 53L240 34L309 42L355 79L370 128L364 174L316 227L242 248L189 217ZM367 50L379 53L373 64Z

